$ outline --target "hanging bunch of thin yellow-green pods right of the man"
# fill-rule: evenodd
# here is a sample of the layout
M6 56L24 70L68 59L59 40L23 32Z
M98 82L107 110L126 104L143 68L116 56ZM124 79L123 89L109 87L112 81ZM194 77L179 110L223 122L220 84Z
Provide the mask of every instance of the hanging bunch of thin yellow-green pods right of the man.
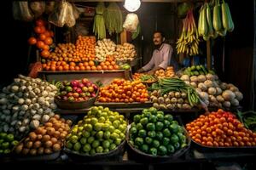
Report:
M177 40L177 54L196 55L198 53L198 32L195 26L193 10L190 9L183 20L183 32Z

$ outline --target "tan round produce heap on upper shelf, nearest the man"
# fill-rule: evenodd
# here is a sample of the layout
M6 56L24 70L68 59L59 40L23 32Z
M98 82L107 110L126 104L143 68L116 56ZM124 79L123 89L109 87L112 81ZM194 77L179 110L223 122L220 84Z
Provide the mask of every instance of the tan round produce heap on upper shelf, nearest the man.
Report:
M133 60L137 56L135 46L125 42L123 45L117 45L114 52L115 58L119 61Z

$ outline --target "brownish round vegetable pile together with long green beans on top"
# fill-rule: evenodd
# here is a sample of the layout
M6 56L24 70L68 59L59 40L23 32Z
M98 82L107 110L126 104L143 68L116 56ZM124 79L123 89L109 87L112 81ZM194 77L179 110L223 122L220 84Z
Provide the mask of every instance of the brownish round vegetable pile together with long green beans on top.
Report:
M200 103L199 94L195 88L179 78L164 78L150 87L150 99L157 109L183 108L190 109ZM189 104L189 105L188 105Z

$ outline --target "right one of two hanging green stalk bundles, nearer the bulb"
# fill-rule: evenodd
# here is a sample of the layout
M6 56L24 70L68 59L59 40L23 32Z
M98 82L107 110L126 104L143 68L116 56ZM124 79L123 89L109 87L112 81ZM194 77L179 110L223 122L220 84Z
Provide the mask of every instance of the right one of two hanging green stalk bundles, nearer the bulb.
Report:
M123 14L117 3L109 3L104 13L104 20L110 35L123 31Z

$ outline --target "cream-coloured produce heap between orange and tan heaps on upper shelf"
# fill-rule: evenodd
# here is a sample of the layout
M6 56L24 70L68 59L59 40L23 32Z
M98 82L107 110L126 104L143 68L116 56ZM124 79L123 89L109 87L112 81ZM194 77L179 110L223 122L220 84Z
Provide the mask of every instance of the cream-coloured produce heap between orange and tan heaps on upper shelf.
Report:
M102 39L96 42L96 60L105 61L107 56L114 54L116 44L110 39Z

